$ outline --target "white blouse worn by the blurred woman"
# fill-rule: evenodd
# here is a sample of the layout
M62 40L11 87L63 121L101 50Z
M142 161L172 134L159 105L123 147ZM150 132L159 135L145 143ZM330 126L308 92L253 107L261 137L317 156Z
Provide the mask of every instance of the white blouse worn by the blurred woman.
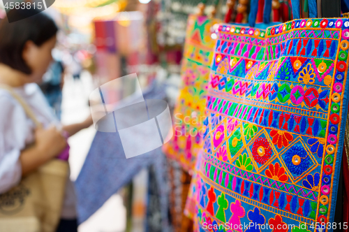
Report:
M38 85L31 83L13 89L27 102L44 128L50 124L60 124ZM27 117L20 103L8 91L0 88L0 194L20 182L20 153L27 145L34 143L34 129L34 122ZM67 181L61 217L76 218L75 192L70 180Z

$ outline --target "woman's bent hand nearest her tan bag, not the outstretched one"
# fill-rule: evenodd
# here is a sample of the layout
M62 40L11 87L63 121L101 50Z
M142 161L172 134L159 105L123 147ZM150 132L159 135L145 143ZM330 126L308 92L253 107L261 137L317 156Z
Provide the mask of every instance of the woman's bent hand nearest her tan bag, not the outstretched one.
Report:
M49 157L57 157L66 148L66 138L54 125L48 129L36 129L35 136L36 147Z

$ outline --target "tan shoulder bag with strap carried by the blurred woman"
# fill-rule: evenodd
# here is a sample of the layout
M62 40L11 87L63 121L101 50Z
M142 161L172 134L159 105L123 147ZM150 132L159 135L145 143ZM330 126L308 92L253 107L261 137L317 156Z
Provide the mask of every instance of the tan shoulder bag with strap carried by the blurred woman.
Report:
M0 85L0 88L8 90L36 126L41 126L27 103L13 89L6 85ZM0 231L56 231L67 178L68 162L53 159L24 177L10 191L0 194Z

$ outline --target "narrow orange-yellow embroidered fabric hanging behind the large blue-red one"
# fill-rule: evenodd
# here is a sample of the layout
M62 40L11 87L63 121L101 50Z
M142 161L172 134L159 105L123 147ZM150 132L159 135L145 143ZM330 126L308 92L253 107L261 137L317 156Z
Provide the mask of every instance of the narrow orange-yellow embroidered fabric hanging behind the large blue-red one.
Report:
M183 88L174 109L174 136L163 147L165 154L179 161L186 171L195 165L195 154L202 147L206 89L215 40L211 29L218 20L190 15L182 60ZM216 36L216 34L214 34Z

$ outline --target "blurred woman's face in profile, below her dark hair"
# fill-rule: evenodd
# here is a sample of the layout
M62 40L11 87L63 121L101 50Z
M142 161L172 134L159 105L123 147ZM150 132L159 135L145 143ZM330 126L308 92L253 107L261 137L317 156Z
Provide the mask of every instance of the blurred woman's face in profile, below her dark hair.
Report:
M28 41L23 50L23 59L31 69L29 82L40 82L52 61L52 49L56 45L57 38L53 36L48 41L38 46Z

